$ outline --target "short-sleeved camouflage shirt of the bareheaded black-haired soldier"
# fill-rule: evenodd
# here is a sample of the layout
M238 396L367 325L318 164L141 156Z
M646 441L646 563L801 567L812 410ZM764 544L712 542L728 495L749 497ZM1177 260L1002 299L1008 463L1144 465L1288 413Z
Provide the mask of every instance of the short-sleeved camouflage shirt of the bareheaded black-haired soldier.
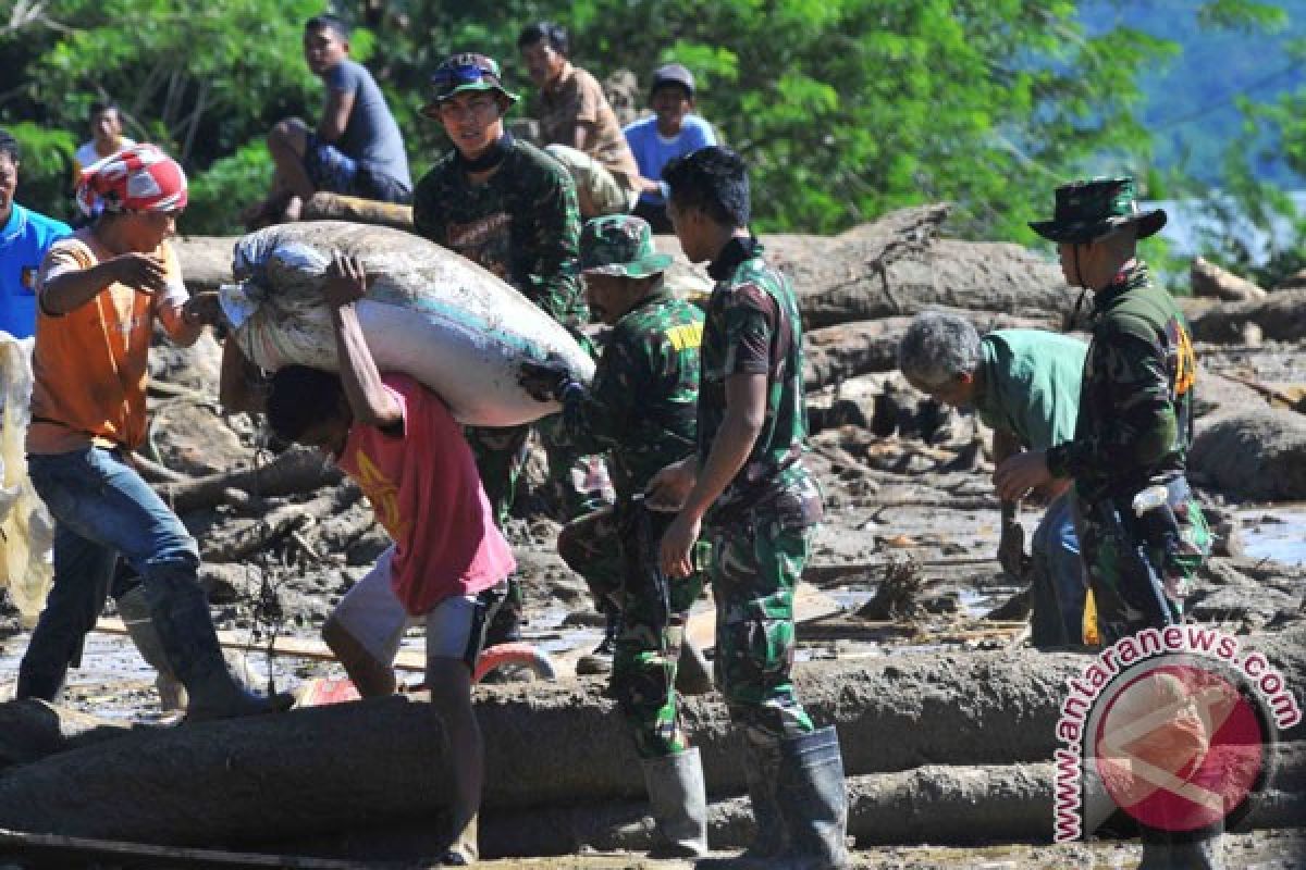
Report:
M767 265L756 239L734 239L708 274L699 386L699 463L704 463L726 412L726 378L767 376L767 416L743 468L708 513L724 526L765 515L785 526L821 517L820 490L803 467L807 407L803 399L803 334L789 279Z

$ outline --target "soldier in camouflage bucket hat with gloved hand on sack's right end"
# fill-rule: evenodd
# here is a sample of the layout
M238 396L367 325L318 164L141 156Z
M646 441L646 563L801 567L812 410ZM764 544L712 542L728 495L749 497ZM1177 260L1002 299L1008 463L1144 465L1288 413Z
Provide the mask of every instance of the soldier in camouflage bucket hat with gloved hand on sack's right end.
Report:
M663 284L671 258L656 252L641 218L590 220L580 252L590 310L613 326L593 385L550 363L522 365L521 382L541 400L563 402L573 445L610 451L615 507L569 523L558 552L622 616L610 694L635 734L661 833L650 856L697 857L708 844L707 797L699 750L680 724L675 673L701 583L662 574L657 544L669 514L650 511L643 496L656 472L695 449L703 312Z

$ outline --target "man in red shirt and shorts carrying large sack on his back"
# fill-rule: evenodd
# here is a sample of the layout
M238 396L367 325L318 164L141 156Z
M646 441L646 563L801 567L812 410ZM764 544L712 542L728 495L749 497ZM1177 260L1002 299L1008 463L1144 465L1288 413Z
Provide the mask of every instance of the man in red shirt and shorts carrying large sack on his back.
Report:
M278 370L266 399L268 424L281 438L330 455L362 487L394 541L341 600L323 638L359 694L385 695L394 691L390 664L406 629L418 620L426 623L426 683L448 734L456 794L441 862L466 865L478 856L485 776L471 674L516 565L444 402L406 374L377 372L354 308L366 292L363 265L337 254L323 296L332 310L340 374L302 365ZM239 353L235 342L227 342L227 352ZM242 383L227 378L223 402L249 408Z

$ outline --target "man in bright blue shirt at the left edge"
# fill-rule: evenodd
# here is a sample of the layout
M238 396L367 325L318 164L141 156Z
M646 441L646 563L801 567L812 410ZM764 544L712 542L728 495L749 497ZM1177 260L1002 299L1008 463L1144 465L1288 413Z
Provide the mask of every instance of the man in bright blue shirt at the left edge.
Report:
M72 232L63 220L24 209L18 189L18 141L0 129L0 330L27 338L37 327L37 273L46 252Z

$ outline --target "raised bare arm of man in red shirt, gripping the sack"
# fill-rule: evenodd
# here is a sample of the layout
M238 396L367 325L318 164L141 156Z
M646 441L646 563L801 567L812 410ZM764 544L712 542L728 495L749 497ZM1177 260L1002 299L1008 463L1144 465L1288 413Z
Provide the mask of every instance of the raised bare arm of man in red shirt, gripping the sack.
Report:
M354 419L381 429L402 423L404 410L381 383L381 373L367 347L367 339L363 338L363 327L354 308L354 303L367 293L363 263L358 258L337 253L326 275L323 296L332 309L340 381Z

